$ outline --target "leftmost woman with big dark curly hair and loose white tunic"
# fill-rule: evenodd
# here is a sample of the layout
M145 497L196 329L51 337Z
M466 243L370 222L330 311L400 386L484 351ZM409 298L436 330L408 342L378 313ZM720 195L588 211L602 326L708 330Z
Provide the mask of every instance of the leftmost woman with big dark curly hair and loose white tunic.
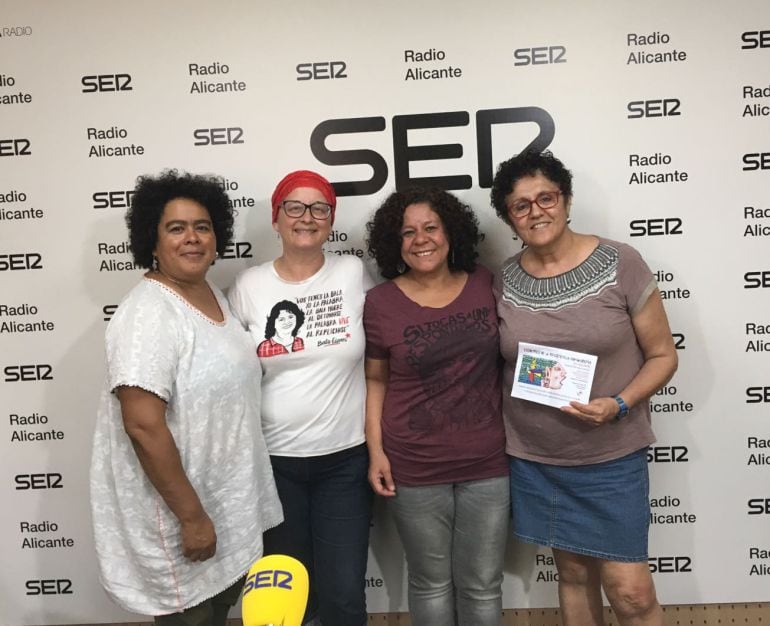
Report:
M206 280L232 210L219 179L169 170L138 179L126 222L149 271L106 333L91 461L101 579L156 624L224 625L262 531L282 519L259 361Z

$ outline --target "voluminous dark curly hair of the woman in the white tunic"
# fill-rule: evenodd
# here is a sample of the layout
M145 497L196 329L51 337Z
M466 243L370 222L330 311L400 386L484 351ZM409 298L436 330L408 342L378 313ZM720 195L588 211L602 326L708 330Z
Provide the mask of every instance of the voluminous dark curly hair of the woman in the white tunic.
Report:
M152 267L152 253L158 243L158 224L166 205L176 198L188 198L208 212L214 228L217 253L221 256L233 238L233 209L222 179L217 176L179 174L164 170L158 176L140 176L131 206L126 211L126 225L134 263Z

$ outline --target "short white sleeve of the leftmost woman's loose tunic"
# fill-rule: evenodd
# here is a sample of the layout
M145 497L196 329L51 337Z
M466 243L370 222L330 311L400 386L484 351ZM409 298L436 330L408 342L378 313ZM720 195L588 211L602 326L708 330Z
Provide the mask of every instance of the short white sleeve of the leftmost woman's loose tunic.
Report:
M118 308L107 327L109 388L139 387L168 402L179 364L180 329L173 307L145 292Z

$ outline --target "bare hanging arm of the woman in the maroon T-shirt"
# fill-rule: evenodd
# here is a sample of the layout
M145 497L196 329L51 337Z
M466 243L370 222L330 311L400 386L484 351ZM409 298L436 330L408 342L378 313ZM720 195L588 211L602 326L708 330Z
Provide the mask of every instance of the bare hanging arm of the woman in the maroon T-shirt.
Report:
M382 448L382 406L388 387L387 359L366 359L366 445L369 448L369 483L377 495L396 495L390 461Z

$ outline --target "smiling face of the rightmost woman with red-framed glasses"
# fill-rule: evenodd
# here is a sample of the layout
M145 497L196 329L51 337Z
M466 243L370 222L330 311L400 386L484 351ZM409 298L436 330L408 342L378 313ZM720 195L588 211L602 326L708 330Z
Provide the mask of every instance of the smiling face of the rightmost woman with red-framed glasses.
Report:
M543 192L559 192L559 186L537 173L534 176L524 176L516 181L513 190L505 197L508 207L508 218L519 239L531 248L547 249L556 244L567 231L567 218L571 198L559 195L559 200L550 209L541 209L535 198ZM530 212L523 217L514 217L511 207L521 200L532 202Z

